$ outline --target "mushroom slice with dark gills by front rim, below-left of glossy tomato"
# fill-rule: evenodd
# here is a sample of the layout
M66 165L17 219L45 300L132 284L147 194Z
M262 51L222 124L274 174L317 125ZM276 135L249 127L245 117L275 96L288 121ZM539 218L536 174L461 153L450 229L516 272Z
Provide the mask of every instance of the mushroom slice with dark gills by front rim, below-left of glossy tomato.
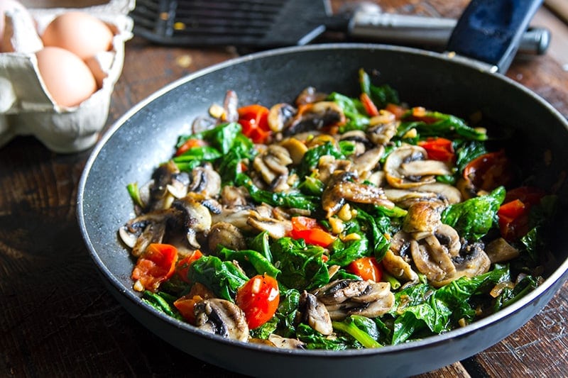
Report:
M215 335L246 342L249 326L244 312L226 299L204 299L194 306L197 328Z

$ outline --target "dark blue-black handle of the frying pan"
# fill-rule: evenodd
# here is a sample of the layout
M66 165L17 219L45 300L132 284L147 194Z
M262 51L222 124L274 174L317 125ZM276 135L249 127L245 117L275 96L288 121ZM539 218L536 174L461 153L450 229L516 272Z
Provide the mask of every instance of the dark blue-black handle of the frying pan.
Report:
M542 0L471 0L449 38L447 51L506 72Z

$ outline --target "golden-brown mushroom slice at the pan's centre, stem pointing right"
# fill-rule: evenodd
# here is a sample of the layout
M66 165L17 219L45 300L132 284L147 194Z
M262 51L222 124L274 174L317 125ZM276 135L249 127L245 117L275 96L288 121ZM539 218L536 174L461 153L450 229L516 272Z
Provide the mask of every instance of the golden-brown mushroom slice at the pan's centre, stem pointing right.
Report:
M393 202L386 198L382 188L350 181L356 179L357 175L353 172L334 172L322 194L322 207L327 212L327 218L337 213L346 201L393 209Z

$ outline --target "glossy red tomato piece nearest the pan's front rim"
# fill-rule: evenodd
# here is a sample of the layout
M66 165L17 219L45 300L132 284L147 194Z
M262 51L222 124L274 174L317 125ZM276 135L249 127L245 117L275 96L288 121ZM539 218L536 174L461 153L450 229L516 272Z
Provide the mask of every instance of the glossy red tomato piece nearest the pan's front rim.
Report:
M278 281L267 274L252 277L236 292L235 303L244 311L249 328L262 326L271 320L280 303Z

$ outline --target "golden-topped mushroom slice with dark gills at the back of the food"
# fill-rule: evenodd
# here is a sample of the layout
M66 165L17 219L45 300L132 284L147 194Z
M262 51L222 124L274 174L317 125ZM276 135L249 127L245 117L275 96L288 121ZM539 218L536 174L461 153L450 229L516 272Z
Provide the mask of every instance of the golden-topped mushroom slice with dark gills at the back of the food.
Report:
M283 133L294 135L344 122L345 115L341 106L333 101L319 101L300 106L294 120L288 128L283 130Z

